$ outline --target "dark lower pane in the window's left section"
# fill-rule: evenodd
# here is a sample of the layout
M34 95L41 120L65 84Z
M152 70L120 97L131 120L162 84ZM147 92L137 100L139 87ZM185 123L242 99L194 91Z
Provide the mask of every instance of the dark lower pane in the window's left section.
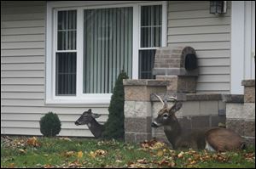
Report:
M76 94L76 53L56 54L56 95Z

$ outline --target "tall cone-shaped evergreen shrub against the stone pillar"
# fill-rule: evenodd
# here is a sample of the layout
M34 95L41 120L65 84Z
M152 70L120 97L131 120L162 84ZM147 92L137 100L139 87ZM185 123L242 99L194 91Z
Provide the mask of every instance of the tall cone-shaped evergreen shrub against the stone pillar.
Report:
M123 79L128 79L129 77L122 70L119 73L118 79L115 82L115 87L113 88L113 95L111 97L110 105L108 108L108 121L105 123L105 130L102 132L102 138L124 138L125 127L124 127L124 102L125 102L125 92L123 86Z

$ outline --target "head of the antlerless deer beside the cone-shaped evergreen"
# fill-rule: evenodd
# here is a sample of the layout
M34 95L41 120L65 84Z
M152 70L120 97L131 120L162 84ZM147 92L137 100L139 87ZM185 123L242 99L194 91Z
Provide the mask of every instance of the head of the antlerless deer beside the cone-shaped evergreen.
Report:
M75 121L75 125L79 126L79 125L88 125L89 123L91 123L91 121L94 121L96 118L98 118L99 114L96 113L92 113L91 109L84 111L84 113L79 117L79 119L77 121Z

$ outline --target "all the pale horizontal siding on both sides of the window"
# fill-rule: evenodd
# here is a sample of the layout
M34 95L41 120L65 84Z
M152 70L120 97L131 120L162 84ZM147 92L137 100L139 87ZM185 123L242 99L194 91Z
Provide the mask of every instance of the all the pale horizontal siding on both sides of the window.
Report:
M199 93L229 93L230 8L223 17L208 8L209 2L169 2L167 44L196 49ZM1 134L41 135L38 121L53 111L61 136L92 137L73 122L89 108L107 121L108 104L45 104L45 27L46 2L1 2Z

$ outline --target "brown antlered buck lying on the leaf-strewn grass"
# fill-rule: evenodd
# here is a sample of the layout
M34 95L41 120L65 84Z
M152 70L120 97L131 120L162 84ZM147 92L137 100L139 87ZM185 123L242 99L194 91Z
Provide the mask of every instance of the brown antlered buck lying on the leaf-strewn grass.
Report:
M197 130L185 133L183 127L177 121L175 112L180 110L182 103L176 98L172 107L168 108L167 100L154 94L163 104L158 116L152 122L152 127L164 127L166 138L172 144L173 149L208 149L211 151L225 151L232 149L244 149L245 143L240 135L230 129L215 127L205 130Z

